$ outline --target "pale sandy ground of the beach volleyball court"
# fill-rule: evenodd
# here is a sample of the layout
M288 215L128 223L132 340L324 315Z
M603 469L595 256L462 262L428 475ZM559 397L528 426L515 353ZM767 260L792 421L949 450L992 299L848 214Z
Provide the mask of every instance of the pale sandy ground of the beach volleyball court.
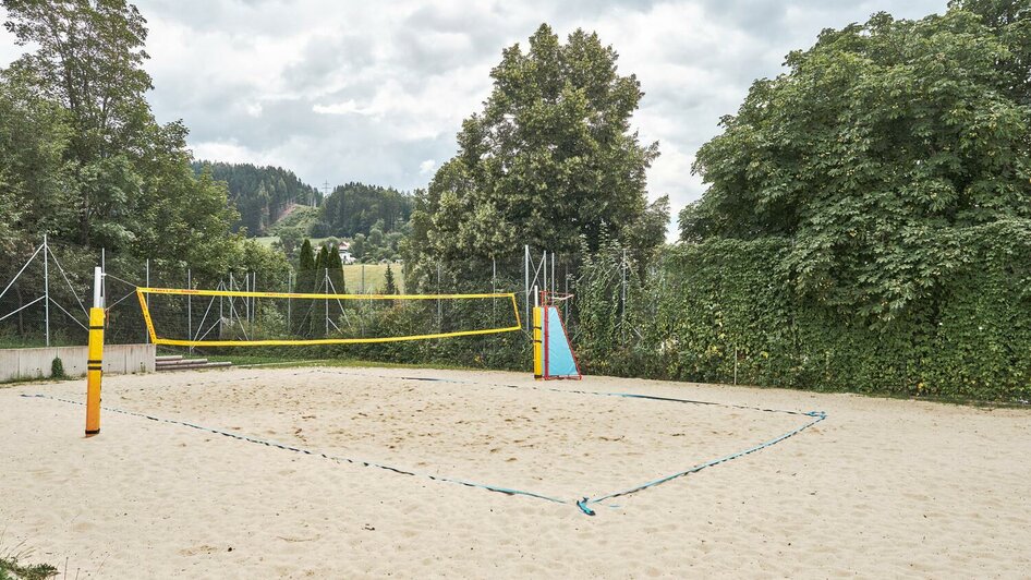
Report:
M450 382L401 377L442 377ZM507 388L499 385L514 385ZM104 404L565 500L508 496L0 388L0 554L69 578L1031 575L1031 411L586 377L240 368L105 379ZM535 388L537 387L537 388ZM549 390L557 388L558 391Z

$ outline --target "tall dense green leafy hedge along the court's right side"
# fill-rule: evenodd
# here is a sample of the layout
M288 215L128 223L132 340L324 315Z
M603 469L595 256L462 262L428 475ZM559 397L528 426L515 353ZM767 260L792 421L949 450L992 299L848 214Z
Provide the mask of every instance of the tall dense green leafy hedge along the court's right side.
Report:
M668 250L632 280L630 339L581 312L591 372L813 390L1011 401L1031 398L1031 235L1022 222L943 232L959 259L889 321L799 294L789 242L717 240ZM595 262L604 262L595 259ZM583 278L596 309L612 280ZM608 310L609 314L615 311ZM639 334L640 333L640 334Z

